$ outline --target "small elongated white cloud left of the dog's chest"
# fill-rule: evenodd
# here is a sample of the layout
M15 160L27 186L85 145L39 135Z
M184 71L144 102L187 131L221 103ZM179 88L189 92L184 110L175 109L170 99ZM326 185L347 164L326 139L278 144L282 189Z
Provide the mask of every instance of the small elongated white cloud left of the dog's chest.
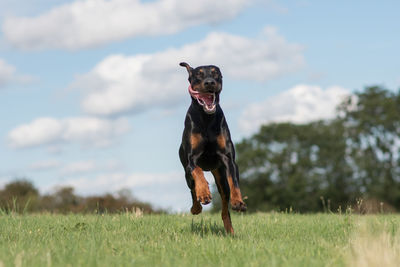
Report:
M107 146L128 130L125 119L106 120L95 117L66 119L38 118L9 132L12 147L25 148L55 143L79 143L82 146Z

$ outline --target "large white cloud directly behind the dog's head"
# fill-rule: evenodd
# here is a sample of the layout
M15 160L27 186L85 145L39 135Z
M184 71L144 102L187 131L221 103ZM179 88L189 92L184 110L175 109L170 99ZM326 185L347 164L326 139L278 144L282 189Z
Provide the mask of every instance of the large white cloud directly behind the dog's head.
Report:
M178 49L135 56L112 55L81 75L73 86L87 90L83 109L96 115L169 107L186 95L187 73L178 66L215 64L230 79L268 81L304 65L302 47L288 43L273 27L259 38L211 33Z

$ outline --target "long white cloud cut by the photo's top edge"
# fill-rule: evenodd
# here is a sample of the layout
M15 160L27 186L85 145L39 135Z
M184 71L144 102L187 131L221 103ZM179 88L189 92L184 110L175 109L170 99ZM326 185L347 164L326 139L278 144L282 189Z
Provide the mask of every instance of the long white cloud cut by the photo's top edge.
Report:
M4 37L21 49L81 49L135 36L165 35L235 17L250 0L84 0L37 17L7 17Z

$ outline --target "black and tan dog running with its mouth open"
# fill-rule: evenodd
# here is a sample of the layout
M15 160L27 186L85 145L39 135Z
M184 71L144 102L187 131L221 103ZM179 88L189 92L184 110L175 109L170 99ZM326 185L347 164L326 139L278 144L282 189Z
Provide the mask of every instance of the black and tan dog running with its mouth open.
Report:
M218 67L192 68L180 63L189 73L189 93L192 103L186 113L185 129L179 157L185 169L186 182L191 190L192 214L211 202L211 193L203 171L211 171L222 199L222 220L225 230L233 234L229 202L233 210L245 211L239 189L239 170L228 124L219 106L222 74Z

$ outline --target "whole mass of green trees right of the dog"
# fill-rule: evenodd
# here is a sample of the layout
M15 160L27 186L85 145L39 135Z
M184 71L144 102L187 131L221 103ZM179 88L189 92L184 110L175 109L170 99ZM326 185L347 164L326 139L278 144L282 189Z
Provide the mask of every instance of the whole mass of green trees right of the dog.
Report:
M337 110L333 120L264 125L236 145L250 212L345 210L360 198L400 208L400 93L368 87Z

